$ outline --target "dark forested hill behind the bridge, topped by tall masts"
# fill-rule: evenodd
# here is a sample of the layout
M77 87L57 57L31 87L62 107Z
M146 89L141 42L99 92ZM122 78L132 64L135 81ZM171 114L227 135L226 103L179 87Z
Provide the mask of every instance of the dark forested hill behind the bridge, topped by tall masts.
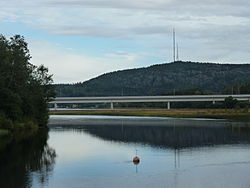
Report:
M226 87L250 82L250 64L178 61L106 73L86 82L56 85L58 96L164 95L199 89L222 93Z

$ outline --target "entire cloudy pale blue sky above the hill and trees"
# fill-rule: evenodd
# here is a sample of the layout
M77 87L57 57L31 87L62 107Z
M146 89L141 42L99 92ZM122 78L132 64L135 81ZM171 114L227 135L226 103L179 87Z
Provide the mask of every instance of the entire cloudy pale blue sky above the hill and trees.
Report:
M249 63L249 0L0 0L0 34L20 34L55 83L173 61Z

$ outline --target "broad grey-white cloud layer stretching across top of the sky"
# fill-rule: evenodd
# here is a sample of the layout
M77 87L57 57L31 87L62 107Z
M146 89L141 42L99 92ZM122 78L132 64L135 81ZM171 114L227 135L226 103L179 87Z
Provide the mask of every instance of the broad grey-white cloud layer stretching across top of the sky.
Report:
M2 0L0 7L1 20L21 21L51 34L126 40L166 37L173 27L180 37L186 33L183 37L200 39L210 28L227 33L227 26L246 30L250 22L246 0Z

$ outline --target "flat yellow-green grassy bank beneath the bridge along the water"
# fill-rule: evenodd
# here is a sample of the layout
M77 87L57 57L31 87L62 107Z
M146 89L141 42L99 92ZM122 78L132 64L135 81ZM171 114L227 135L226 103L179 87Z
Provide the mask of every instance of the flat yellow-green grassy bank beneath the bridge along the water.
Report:
M110 115L110 116L150 116L175 118L213 118L250 120L247 109L126 109L126 110L57 110L50 115Z

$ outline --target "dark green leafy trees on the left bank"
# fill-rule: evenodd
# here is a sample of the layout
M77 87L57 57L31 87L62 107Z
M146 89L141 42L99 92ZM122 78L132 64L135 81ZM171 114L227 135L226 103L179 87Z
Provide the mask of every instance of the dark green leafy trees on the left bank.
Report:
M48 69L32 65L28 44L16 35L0 35L0 128L45 125L48 102L54 96ZM28 123L27 123L28 124Z

